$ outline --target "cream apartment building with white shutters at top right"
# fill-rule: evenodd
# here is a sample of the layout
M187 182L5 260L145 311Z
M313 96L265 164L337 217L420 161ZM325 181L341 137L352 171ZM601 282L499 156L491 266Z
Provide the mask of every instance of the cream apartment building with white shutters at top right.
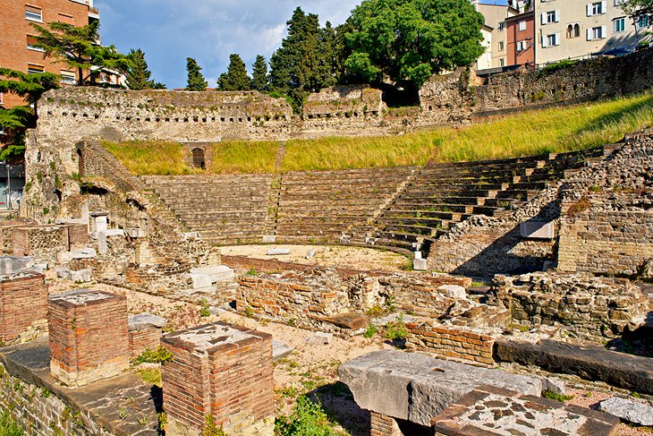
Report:
M645 17L633 23L623 0L535 0L535 62L622 54L637 46L637 33L651 30Z

